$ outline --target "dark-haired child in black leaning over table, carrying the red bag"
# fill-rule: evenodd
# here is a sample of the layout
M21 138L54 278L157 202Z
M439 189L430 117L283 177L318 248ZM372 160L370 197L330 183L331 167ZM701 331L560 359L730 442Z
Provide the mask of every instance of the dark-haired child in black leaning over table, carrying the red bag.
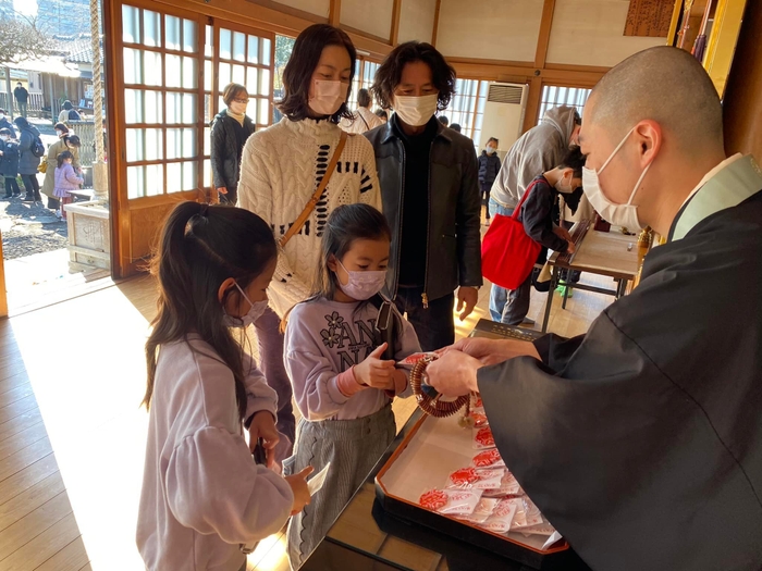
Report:
M576 206L582 196L582 166L585 156L579 147L566 151L566 156L555 169L537 176L529 196L521 206L518 221L531 239L542 246L537 258L537 264L542 265L548 258L548 250L574 253L575 245L568 231L558 226L555 221L558 199L564 197L566 203L576 211ZM492 315L493 321L506 325L520 325L529 311L530 291L532 286L531 272L517 289L508 289L508 303L503 315ZM552 295L552 294L551 294ZM495 319L497 318L497 319Z

